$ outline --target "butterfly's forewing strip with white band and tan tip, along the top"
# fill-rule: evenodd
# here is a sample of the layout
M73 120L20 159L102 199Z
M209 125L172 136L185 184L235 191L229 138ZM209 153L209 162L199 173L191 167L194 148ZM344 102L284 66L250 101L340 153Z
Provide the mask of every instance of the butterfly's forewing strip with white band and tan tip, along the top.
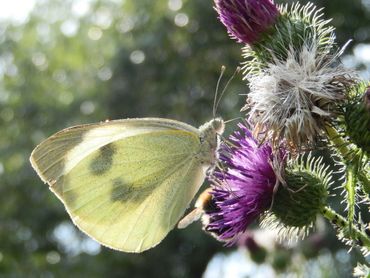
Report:
M31 154L31 164L44 182L51 183L100 147L121 138L158 130L198 130L187 124L158 118L126 119L66 128L52 135Z

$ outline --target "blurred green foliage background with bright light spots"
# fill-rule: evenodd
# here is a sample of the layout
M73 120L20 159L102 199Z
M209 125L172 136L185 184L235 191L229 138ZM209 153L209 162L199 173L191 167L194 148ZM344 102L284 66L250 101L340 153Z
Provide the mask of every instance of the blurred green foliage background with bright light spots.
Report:
M343 62L370 78L370 1L314 2L334 18L339 45L353 39ZM40 0L27 18L0 19L0 277L200 277L211 260L206 277L248 276L238 269L252 265L249 253L199 224L144 254L101 247L28 162L42 139L71 125L158 116L199 126L212 117L221 66L225 84L240 61L211 0ZM246 93L239 75L218 114L242 116ZM348 255L320 227L295 248L268 251L260 277L348 277L356 250Z

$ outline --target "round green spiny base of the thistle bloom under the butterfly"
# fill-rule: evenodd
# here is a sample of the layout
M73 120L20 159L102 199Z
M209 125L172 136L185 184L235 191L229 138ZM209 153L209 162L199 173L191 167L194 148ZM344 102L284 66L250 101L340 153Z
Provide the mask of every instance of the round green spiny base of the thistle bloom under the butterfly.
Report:
M327 205L331 172L322 158L309 155L306 160L300 158L287 167L285 183L279 186L271 211L262 224L279 229L283 237L304 237Z

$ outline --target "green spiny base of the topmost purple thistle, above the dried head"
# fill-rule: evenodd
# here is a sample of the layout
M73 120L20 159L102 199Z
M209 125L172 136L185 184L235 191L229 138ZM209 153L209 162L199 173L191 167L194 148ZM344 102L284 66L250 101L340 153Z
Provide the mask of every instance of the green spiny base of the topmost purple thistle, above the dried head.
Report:
M269 63L285 61L289 53L315 47L319 56L335 46L334 27L323 19L322 9L312 3L279 6L280 16L262 39L243 48L245 78L258 74ZM298 58L298 57L297 57Z

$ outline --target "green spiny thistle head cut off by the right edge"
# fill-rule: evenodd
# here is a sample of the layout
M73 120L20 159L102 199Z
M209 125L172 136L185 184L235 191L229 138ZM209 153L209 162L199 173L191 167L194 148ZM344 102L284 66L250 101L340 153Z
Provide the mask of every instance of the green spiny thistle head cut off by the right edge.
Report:
M348 92L343 119L349 140L370 155L370 82L361 82Z

